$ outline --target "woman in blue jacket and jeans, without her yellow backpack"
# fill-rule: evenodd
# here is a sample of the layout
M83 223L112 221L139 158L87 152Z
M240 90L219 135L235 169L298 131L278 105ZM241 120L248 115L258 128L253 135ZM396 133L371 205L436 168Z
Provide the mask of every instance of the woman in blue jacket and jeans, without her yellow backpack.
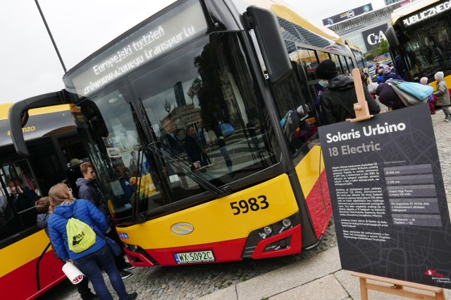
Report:
M121 300L134 300L137 293L128 294L121 278L121 274L114 263L114 257L106 242L96 237L95 243L87 250L75 253L69 249L66 225L70 217L85 222L97 230L106 232L105 215L87 200L73 198L72 191L66 184L56 184L49 191L50 203L54 213L49 217L49 234L56 253L64 261L75 264L92 282L92 287L99 299L113 300L113 296L106 287L101 268L108 274L111 285Z

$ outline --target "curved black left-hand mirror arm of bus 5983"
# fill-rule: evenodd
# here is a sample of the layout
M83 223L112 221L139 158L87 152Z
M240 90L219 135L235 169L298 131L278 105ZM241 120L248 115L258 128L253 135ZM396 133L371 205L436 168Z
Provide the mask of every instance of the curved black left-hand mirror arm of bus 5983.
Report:
M27 157L27 144L23 136L22 128L27 124L28 111L39 107L51 107L59 104L66 104L64 90L61 92L49 92L48 94L31 97L13 104L8 112L8 124L11 131L11 139L18 155Z

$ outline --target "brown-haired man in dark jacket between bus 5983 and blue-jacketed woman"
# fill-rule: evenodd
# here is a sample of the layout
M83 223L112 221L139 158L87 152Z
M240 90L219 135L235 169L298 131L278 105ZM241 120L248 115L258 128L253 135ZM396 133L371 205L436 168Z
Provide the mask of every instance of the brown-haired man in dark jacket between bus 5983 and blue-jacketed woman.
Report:
M90 203L94 204L101 212L104 213L106 217L106 224L108 224L108 229L106 230L106 236L110 239L116 241L116 243L123 249L123 242L119 239L118 232L116 232L116 227L114 226L113 219L111 218L111 213L108 208L108 203L104 194L100 191L97 186L97 175L94 172L91 162L83 162L80 164L80 170L82 172L83 178L77 179L75 184L78 187L78 198L88 200ZM131 272L128 272L133 267L130 263L127 263L123 256L125 252L122 250L120 256L115 258L116 265L119 270L121 270L121 276L123 279L130 277Z

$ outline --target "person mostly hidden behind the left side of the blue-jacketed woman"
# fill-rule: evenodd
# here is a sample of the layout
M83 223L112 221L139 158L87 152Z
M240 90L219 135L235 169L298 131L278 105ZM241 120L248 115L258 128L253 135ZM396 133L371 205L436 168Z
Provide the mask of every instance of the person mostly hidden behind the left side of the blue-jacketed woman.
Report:
M47 221L49 220L51 212L53 212L50 209L50 198L49 197L42 197L39 198L39 200L35 203L35 208L37 211L37 227L40 229L44 229L44 232L49 236L49 227L47 226ZM59 258L58 253L56 252L55 247L51 246L54 251L54 255L56 258ZM61 259L61 258L60 258ZM61 261L63 261L61 259ZM64 263L64 261L63 261ZM82 280L80 283L77 284L77 291L78 294L82 297L82 300L92 300L97 299L96 294L92 294L91 289L89 289L88 286L89 280Z

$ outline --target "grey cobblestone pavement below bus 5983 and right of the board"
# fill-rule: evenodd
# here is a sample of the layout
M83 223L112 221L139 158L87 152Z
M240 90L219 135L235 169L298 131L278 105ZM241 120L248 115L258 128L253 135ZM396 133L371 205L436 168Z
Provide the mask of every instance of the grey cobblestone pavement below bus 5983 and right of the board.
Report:
M450 152L451 122L445 123L443 112L432 115L435 138L442 166L443 179L448 202L450 201ZM336 246L335 227L330 222L326 236L320 246L313 251L307 251L295 256L271 258L266 260L245 260L235 263L209 265L184 265L178 267L135 268L133 275L124 280L129 292L137 291L138 299L197 299L204 294L210 294L257 277L271 270L290 265L295 261ZM109 282L106 279L106 282ZM109 289L113 291L111 286ZM39 300L80 299L76 287L65 280L51 291L39 297Z

